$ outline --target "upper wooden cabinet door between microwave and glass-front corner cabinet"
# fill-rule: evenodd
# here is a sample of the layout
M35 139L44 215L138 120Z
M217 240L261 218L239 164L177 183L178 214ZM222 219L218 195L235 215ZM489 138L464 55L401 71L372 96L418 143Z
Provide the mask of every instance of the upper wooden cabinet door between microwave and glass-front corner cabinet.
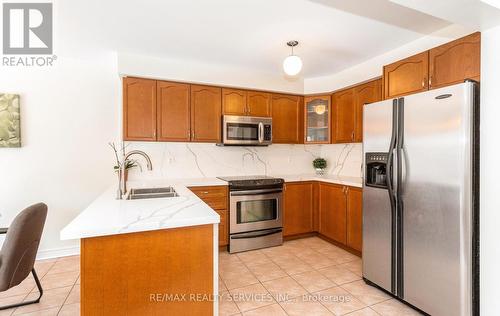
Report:
M303 143L303 97L273 94L273 143Z

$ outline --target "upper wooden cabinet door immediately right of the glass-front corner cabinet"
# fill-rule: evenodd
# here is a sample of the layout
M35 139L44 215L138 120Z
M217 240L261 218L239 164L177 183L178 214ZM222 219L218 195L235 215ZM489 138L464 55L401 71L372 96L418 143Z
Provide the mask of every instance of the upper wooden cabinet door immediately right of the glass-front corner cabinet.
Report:
M336 92L332 95L332 142L354 142L355 105L354 89Z

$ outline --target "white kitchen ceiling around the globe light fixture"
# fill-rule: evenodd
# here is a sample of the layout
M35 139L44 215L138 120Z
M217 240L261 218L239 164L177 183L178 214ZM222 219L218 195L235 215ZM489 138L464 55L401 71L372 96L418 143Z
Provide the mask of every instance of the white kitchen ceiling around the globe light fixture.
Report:
M388 0L65 0L55 7L56 23L75 35L68 43L155 57L281 72L285 43L295 39L304 77L338 72L449 24Z

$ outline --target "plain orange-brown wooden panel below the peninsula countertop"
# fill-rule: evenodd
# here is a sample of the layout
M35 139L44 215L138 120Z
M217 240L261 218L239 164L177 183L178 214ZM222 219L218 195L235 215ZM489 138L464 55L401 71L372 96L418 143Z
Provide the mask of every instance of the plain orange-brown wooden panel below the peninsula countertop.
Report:
M213 255L213 225L82 239L81 315L213 315Z

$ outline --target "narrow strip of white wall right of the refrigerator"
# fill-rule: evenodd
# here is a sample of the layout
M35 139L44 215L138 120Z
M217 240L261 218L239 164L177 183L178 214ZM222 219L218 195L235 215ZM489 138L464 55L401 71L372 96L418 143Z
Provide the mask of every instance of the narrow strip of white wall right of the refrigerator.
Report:
M500 27L481 38L481 315L500 313Z

